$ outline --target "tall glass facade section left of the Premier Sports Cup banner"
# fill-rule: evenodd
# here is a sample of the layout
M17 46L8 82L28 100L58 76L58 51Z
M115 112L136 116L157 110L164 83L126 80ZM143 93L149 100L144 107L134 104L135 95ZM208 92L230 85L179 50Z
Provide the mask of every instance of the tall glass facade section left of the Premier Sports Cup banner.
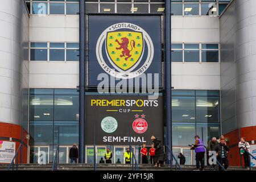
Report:
M30 90L30 145L71 145L79 140L79 92Z

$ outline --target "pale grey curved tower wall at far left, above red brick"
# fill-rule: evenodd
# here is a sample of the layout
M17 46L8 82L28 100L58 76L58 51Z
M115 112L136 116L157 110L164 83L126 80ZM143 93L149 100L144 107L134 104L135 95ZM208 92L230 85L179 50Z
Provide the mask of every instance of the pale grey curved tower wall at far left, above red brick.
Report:
M20 125L27 118L23 106L28 97L29 16L23 1L0 0L0 4L0 122Z

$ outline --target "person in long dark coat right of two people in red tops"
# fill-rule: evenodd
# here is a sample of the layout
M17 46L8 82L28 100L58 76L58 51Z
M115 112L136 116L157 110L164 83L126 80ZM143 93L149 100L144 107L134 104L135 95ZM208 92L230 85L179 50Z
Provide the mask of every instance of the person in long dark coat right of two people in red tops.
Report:
M154 136L151 137L151 140L154 143L155 148L155 167L160 167L160 164L163 164L165 161L163 146L161 146L161 141L156 139Z

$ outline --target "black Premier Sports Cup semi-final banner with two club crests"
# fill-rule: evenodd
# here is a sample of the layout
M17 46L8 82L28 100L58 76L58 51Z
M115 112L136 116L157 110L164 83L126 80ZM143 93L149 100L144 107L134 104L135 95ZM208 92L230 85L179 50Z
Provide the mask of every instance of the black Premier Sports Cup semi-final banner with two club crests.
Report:
M163 144L163 97L86 96L86 144L135 145L151 144L151 135ZM131 135L129 136L129 130Z

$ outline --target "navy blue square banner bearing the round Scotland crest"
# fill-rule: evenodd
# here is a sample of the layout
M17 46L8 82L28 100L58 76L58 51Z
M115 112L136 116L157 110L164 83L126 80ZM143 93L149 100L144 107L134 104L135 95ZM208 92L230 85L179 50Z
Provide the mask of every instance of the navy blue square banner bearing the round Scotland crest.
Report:
M157 73L160 86L160 22L160 16L89 15L89 85L98 85L100 73L117 80Z

